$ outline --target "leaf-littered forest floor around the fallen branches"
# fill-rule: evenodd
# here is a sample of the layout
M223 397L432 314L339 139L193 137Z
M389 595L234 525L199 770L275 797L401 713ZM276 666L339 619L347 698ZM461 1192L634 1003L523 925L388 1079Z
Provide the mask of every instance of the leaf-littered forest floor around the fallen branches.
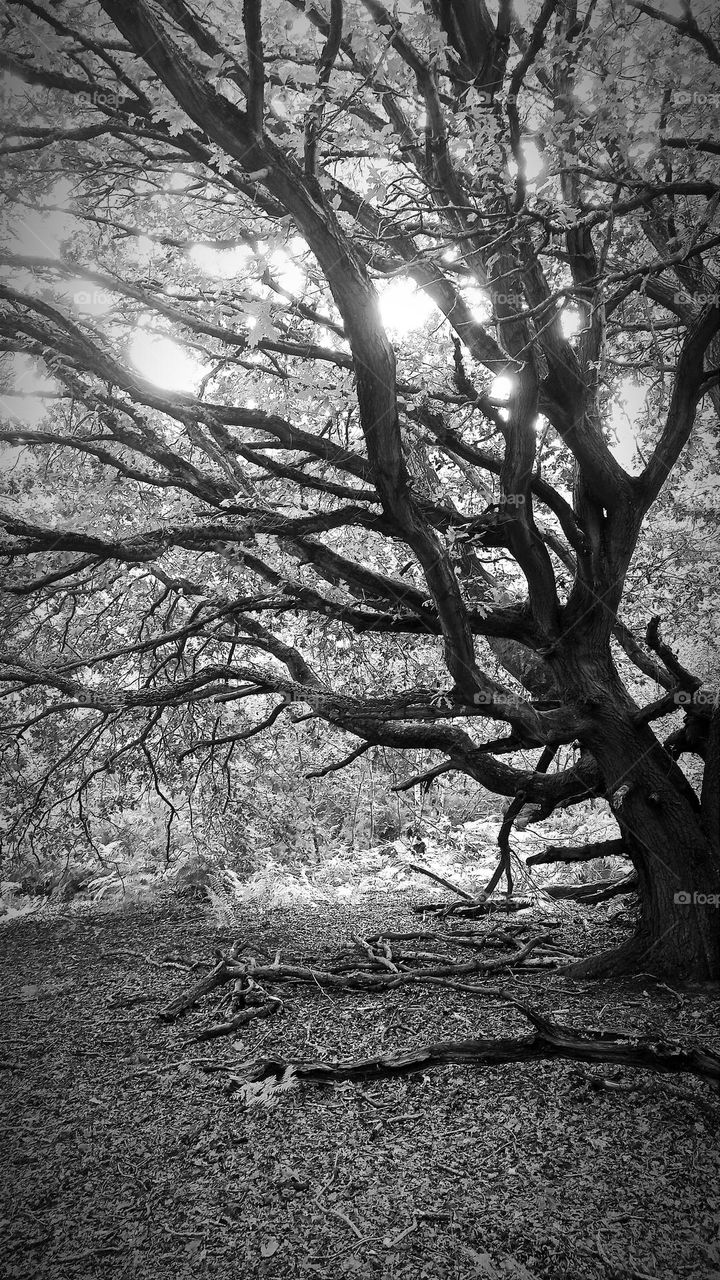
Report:
M214 1066L528 1027L501 1002L419 987L284 989L281 1016L205 1043L208 1007L158 1018L197 978L187 965L234 937L307 960L351 933L413 928L423 896L252 904L223 928L177 900L0 928L3 1275L720 1277L720 1096L701 1080L560 1060L442 1066L247 1107ZM575 954L616 941L618 925L582 920L564 915ZM555 972L502 984L566 1025L720 1050L717 993Z

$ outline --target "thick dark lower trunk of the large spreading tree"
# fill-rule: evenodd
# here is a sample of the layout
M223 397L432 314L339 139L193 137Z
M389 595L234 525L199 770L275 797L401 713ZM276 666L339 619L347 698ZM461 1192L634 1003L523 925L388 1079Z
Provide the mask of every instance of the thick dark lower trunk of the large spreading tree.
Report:
M568 678L566 668L566 678ZM720 978L720 859L700 800L647 724L610 664L569 677L585 722L582 735L606 783L624 851L638 874L639 920L624 946L570 965L575 977L652 973ZM588 696L589 695L589 696Z

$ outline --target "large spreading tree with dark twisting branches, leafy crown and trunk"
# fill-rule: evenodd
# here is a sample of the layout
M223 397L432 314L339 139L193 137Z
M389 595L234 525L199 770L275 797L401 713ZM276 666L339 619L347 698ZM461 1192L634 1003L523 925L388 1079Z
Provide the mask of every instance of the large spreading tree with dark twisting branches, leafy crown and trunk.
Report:
M12 829L300 709L511 818L605 797L641 918L584 972L717 977L714 672L623 604L674 468L716 474L712 9L4 24Z

